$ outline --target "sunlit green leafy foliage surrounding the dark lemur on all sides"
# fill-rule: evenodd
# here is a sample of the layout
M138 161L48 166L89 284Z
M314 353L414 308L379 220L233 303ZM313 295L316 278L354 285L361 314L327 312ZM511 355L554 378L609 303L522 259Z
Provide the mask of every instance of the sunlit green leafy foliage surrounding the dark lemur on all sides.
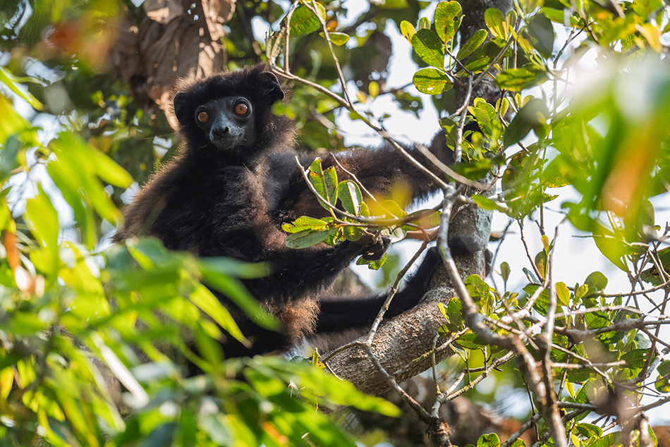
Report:
M623 442L611 431L614 423L591 423L589 415L633 421L622 427L632 430L633 443L656 445L638 413L651 406L650 398L640 400L642 391L656 402L670 393L668 345L659 335L670 293L669 229L659 220L670 184L670 66L662 57L667 6L524 0L514 11L488 9L482 29L459 41L468 5L457 1L439 2L432 17L421 2L374 2L353 25L344 20L346 2L305 1L293 10L274 2L236 5L234 14L224 13L224 1L218 16L194 16L207 22L205 47L217 49L217 60L225 54L230 69L254 63L263 42L253 38L251 19L275 23L290 13L283 29L291 39L273 34L264 51L283 68L286 57L298 78L314 82L296 84L291 104L276 110L296 120L301 143L341 149L342 109L383 128L387 117L374 116L369 106L384 95L414 114L432 101L444 112L439 124L446 144L462 154L451 169L466 180L489 172L500 180L492 195L480 191L463 201L516 221L525 238L524 226L540 228L530 244L540 247L537 253L526 244L525 261L503 254L494 274L503 291L468 276L465 293L440 304L439 333L456 355L438 368L445 377L463 368L467 374L463 384L441 387L451 394L439 399L463 392L481 397L475 386L489 374L502 380L496 369L516 357L522 367L505 373L514 386L530 390L536 377L528 371L537 364L544 367L540 379L550 374L558 391L544 401L530 392L543 442L553 436L561 445L543 403L553 398L567 412L556 415L575 446ZM12 24L0 41L6 50L0 68L0 445L353 446L351 434L315 405L397 416L389 403L311 365L224 358L217 343L224 333L245 340L212 290L258 324L278 329L240 282L267 273L266 266L196 259L151 239L109 246L126 190L172 157L175 145L159 109L167 92L142 90L147 73L121 71L115 79L106 59L125 60L112 51L123 48L114 31L123 20L137 25L149 17L156 29L166 29L169 19L157 18L148 5L114 0L37 2L32 16L22 11L0 12ZM429 97L386 85L390 21L413 48L413 86ZM597 54L601 75L575 86L580 78L573 66L587 49ZM206 62L186 67L173 56L166 54L194 73ZM172 75L173 66L166 70ZM355 81L347 90L356 107L336 100L340 73ZM470 86L489 81L497 86L494 99L462 102ZM382 235L396 240L419 220L427 227L439 223L437 212L407 215L401 197L368 197L318 159L306 176L331 216L301 216L286 225L289 247ZM544 223L550 207L591 238L631 287L606 292L616 271L584 271L574 284L555 275L562 240ZM510 348L512 340L523 349ZM200 372L190 375L185 360ZM499 434L479 435L469 442L501 445ZM524 444L512 436L505 445Z

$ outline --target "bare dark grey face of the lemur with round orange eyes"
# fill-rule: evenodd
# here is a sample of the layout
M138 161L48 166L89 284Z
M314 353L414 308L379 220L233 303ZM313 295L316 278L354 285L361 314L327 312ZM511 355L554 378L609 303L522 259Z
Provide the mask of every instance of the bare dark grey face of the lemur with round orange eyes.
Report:
M244 97L212 99L195 109L193 120L207 140L222 150L250 147L256 140L253 106Z

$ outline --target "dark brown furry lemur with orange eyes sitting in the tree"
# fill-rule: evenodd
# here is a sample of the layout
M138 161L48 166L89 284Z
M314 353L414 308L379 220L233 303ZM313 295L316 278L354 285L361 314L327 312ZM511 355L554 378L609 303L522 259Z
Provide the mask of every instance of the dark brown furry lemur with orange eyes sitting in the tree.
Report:
M183 141L180 152L140 190L126 209L125 226L114 241L152 235L172 250L189 250L200 257L226 256L270 264L269 276L244 283L262 306L284 323L284 329L282 333L260 329L219 294L252 342L248 349L234 341L222 341L229 357L287 350L313 331L369 326L384 295L328 298L320 314L319 300L336 276L355 257L370 251L370 246L346 241L336 247L319 244L293 250L284 245L286 233L281 224L303 215L324 217L327 212L307 188L296 164L293 123L271 112L272 104L284 98L276 77L262 66L254 66L178 88L174 114ZM408 150L430 166L418 150ZM451 162L444 137L436 137L430 150ZM335 166L343 180L351 176L337 166L334 157L372 192L388 192L398 181L408 186L415 199L436 190L391 147L324 157L324 169ZM302 156L300 161L309 166L314 158ZM381 248L377 244L372 251L381 255L386 244ZM437 252L429 252L417 274L394 297L387 317L418 302L438 262Z

